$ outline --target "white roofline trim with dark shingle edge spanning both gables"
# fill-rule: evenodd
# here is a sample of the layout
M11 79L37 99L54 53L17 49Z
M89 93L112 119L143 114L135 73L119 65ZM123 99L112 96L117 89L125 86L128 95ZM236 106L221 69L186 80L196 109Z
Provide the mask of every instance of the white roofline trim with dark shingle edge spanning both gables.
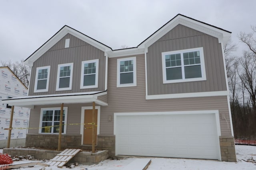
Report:
M69 27L68 25L64 25L64 27L62 27L56 34L54 34L48 41L46 41L46 43L44 43L34 53L32 53L32 55L30 55L24 61L24 63L28 64L29 66L33 66L34 61L41 57L54 44L60 41L60 39L62 39L67 33L70 33L71 35L78 37L82 41L85 41L86 43L89 43L94 47L104 51L105 54L108 55L108 57L120 57L125 55L143 54L147 52L147 48L150 45L152 45L155 41L160 39L162 36L164 36L178 24L182 24L186 27L190 27L197 31L216 37L218 38L219 43L223 43L224 45L231 36L230 31L216 27L214 25L210 25L202 21L195 20L182 14L177 14L174 18L165 23L162 27L160 27L158 30L152 33L148 38L142 41L137 47L112 50L111 47L101 43L100 41L97 41L85 35L84 33L81 33L80 31L77 31L76 29Z

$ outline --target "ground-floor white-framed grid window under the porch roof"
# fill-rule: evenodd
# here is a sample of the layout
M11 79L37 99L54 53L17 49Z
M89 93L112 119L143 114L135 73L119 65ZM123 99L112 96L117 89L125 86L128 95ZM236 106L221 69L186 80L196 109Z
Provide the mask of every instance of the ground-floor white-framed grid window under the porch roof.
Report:
M68 107L63 108L62 133L66 133ZM60 107L42 108L39 133L59 133Z

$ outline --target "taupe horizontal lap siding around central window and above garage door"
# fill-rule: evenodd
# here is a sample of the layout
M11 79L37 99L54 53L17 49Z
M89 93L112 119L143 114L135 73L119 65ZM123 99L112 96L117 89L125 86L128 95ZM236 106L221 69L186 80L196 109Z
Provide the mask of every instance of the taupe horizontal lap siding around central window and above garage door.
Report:
M113 135L114 113L158 111L185 113L195 110L219 110L221 135L231 136L227 96L146 100L144 55L136 55L137 86L134 87L116 87L117 59L110 58L108 61L108 73L111 76L108 76L108 106L101 107L101 135Z

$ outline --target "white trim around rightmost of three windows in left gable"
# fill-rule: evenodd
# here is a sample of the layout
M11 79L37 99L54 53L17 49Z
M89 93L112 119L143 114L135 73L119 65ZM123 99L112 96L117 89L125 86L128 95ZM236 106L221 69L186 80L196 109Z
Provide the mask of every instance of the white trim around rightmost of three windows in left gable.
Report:
M86 63L96 63L96 72L95 72L95 85L92 86L84 86L84 64ZM80 82L80 89L85 88L98 88L98 75L99 75L99 59L96 60L88 60L88 61L82 61L82 67L81 67L81 82Z

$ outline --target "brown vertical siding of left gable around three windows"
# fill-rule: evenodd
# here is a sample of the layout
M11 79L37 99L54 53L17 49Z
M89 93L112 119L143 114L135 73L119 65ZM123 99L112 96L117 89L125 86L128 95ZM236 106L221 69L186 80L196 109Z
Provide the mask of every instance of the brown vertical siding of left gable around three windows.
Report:
M65 47L65 40L70 39L70 47ZM81 66L82 61L99 59L99 76L98 88L80 89ZM56 91L56 79L58 64L74 63L73 66L73 80L72 90ZM50 81L48 92L34 93L34 84L36 78L36 68L42 66L51 66ZM96 47L74 37L73 35L65 35L58 43L56 43L50 50L44 53L38 60L34 62L31 70L31 80L29 88L29 96L46 95L46 94L64 94L77 92L91 92L105 90L105 67L106 57L104 52Z

